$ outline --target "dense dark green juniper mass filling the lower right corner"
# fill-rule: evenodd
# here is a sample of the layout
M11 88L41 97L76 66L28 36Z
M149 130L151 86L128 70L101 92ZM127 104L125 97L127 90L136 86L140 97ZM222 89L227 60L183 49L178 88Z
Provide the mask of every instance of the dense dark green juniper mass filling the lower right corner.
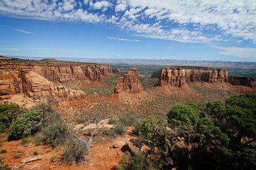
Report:
M125 155L119 167L255 169L255 103L255 95L234 96L225 103L176 105L166 119L147 118L136 131L159 159Z

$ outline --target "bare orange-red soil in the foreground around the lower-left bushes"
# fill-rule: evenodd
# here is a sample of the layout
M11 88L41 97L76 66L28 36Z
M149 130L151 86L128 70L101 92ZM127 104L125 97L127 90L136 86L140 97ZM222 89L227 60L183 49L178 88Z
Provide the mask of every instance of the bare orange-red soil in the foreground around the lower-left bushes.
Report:
M124 152L121 148L112 148L118 141L129 141L136 138L132 136L131 131L127 131L124 136L118 136L115 139L101 138L97 139L97 143L93 144L90 148L88 160L83 161L81 164L68 165L61 161L62 148L51 148L50 146L35 146L33 142L26 145L21 145L21 141L4 142L1 150L7 150L2 153L3 162L11 168L19 167L20 161L26 157L33 156L34 152L42 155L42 160L35 160L26 163L20 169L115 169L118 162L122 159ZM19 155L19 158L15 158ZM51 157L56 155L56 161L51 162Z

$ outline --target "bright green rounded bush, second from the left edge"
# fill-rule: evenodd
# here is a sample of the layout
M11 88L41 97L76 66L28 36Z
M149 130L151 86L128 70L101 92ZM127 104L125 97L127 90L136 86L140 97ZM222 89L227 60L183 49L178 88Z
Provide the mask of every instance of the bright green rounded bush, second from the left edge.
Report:
M42 117L42 110L31 110L23 113L10 125L10 136L8 140L17 140L38 131L39 122Z

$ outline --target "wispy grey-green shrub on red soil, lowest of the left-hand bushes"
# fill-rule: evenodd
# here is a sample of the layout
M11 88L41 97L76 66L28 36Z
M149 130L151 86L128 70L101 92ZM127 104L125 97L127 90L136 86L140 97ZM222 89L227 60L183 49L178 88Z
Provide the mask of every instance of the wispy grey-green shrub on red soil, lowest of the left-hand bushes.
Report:
M84 153L88 152L89 147L88 142L83 139L70 138L63 152L62 160L68 163L82 162L84 160Z

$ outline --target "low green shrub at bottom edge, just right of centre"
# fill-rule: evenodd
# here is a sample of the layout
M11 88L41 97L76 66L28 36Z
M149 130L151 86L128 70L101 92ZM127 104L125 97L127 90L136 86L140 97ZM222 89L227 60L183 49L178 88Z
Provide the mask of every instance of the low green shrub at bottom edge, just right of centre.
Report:
M156 160L150 159L147 154L138 152L133 157L127 153L118 164L118 170L143 170L161 169Z

